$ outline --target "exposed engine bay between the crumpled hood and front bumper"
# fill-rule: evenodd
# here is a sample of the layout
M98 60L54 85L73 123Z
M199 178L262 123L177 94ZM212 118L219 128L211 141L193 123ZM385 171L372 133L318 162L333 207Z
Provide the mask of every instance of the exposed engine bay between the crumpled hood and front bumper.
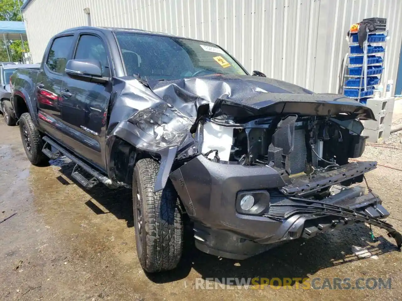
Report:
M203 125L202 153L220 163L268 165L291 177L311 175L360 157L367 138L362 130L357 120L316 116L267 117L245 124L209 120Z

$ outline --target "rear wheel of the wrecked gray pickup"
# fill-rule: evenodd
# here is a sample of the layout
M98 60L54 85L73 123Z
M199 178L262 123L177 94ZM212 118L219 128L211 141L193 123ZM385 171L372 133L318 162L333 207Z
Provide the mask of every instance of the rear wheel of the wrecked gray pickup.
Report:
M24 113L20 117L20 134L29 161L33 165L43 165L49 158L42 153L43 140L39 130L33 124L31 115Z

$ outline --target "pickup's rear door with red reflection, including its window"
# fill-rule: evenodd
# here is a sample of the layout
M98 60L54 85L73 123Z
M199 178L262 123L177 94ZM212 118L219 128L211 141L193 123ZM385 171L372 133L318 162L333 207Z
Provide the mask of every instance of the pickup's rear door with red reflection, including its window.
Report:
M72 55L73 43L73 34L53 39L37 76L36 99L39 108L39 124L49 136L59 141L63 140L64 131L60 90L66 63Z

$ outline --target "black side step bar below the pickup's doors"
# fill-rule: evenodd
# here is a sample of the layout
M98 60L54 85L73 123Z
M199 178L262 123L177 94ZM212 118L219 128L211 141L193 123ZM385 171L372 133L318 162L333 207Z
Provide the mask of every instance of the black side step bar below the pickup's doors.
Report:
M66 150L64 147L60 146L59 144L57 144L56 142L54 142L53 140L51 140L49 137L45 136L43 137L43 140L46 142L46 144L50 144L51 146L53 146L55 149L57 149L57 152L59 152L59 154L62 154L64 156L66 156L68 159L70 159L71 161L73 161L74 163L76 163L76 166L73 169L72 172L72 177L74 179L76 179L76 181L78 181L78 183L80 183L81 185L83 185L85 188L91 188L94 185L96 185L98 182L105 184L107 187L109 188L117 188L116 185L114 185L112 183L112 180L109 179L108 177L102 175L101 173L99 173L98 171L94 170L92 167L90 167L88 164L84 163L82 160L78 159L76 156L74 156L72 153L70 153L68 150ZM56 153L52 153L49 149L47 149L47 152L49 153L49 155L55 155ZM42 150L43 152L43 150ZM48 156L48 154L45 152L43 152L45 155ZM48 156L49 157L49 156ZM58 156L57 156L58 157ZM56 158L57 158L56 157ZM51 157L49 157L51 158ZM53 159L53 158L51 158ZM87 180L80 172L79 172L79 168L82 168L84 171L86 171L87 173L89 173L90 175L92 175L92 179Z

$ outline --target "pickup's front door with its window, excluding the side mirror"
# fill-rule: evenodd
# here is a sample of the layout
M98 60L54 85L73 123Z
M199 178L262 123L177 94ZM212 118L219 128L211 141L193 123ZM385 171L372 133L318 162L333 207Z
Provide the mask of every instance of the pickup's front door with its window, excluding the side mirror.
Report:
M102 66L103 77L111 77L110 53L103 38L96 33L80 33L73 59L94 59ZM64 77L62 119L68 126L64 142L76 154L106 169L106 114L111 96L111 82L91 83Z

